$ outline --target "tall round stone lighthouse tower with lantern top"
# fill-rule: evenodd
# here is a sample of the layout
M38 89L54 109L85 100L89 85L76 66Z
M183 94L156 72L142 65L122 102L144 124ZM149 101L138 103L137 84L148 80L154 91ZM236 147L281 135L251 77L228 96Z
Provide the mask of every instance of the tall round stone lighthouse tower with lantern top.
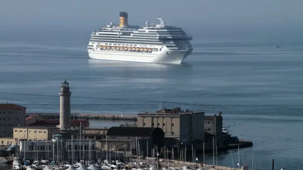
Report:
M69 83L64 80L61 83L60 96L60 130L71 128L71 92Z

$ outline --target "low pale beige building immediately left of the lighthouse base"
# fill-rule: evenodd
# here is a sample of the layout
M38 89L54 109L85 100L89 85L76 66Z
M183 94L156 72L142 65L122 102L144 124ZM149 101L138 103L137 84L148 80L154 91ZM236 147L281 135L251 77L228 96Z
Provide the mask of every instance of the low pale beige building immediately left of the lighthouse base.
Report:
M54 127L16 127L13 131L14 140L51 140L54 134L60 134L60 128Z

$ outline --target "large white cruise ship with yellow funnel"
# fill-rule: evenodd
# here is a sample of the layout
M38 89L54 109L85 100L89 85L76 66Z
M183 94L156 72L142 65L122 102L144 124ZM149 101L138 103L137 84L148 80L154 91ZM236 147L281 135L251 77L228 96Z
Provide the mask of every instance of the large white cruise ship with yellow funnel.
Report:
M158 24L128 25L128 13L120 12L120 24L93 31L87 51L96 60L181 64L192 52L188 36L182 28L171 26L160 17Z

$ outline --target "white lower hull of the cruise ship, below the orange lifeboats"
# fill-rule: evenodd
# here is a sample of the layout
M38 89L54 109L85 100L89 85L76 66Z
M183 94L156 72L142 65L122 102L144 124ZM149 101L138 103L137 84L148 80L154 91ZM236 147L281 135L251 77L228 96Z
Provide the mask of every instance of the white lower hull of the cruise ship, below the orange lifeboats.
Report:
M190 53L191 50L171 50L167 47L151 53L88 49L90 59L161 64L181 64Z

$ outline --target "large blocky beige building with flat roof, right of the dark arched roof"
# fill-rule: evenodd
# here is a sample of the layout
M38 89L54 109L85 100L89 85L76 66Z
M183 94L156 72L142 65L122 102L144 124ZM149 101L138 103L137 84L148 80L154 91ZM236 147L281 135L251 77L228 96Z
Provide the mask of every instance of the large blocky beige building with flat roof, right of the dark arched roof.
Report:
M165 137L180 141L204 141L204 112L183 111L180 107L163 109L155 113L138 114L138 127L161 128Z

